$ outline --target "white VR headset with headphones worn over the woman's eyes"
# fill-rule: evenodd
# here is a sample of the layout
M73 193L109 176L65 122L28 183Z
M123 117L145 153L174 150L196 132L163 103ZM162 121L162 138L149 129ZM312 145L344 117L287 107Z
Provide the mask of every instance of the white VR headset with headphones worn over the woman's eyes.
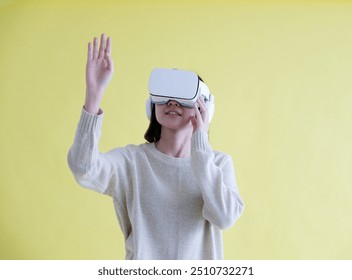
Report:
M214 115L214 97L195 72L155 68L149 77L147 117L148 119L151 117L153 104L166 104L170 100L175 100L181 106L194 108L199 97L205 101L210 122Z

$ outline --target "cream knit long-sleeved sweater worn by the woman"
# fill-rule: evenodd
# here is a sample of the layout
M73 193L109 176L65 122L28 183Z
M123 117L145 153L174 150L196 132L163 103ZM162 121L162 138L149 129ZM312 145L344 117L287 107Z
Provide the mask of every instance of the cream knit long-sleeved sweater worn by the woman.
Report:
M244 208L230 156L204 132L193 134L188 158L153 143L99 153L102 119L82 110L68 164L80 185L112 197L126 259L222 259L221 229Z

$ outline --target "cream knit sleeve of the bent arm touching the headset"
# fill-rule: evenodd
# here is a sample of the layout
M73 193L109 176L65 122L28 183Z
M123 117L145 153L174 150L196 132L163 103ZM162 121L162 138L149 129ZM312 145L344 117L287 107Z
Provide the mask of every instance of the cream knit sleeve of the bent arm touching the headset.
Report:
M216 164L206 132L195 132L191 147L192 169L204 200L203 216L221 229L229 228L244 210L231 157L225 155L220 164Z

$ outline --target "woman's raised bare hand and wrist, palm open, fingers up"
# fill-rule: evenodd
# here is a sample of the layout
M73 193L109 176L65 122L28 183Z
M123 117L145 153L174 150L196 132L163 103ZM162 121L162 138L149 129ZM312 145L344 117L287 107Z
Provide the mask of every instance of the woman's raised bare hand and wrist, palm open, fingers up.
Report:
M104 90L109 84L114 73L114 64L111 59L111 38L105 34L94 38L93 45L88 43L86 65L86 100L84 108L91 114L98 114Z

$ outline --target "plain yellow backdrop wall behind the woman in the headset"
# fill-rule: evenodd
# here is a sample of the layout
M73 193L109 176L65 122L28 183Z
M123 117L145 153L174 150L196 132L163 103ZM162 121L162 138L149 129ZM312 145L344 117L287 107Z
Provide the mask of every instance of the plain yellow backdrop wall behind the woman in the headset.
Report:
M152 68L194 70L246 203L225 258L352 258L352 1L0 0L1 259L124 258L110 198L66 163L102 32L101 151L144 142Z

